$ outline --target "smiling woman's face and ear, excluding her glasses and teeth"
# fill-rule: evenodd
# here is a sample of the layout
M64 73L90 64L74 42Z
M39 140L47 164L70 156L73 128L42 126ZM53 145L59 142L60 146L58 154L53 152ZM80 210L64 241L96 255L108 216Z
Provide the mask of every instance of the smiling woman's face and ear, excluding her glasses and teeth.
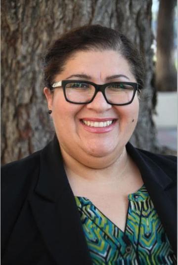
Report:
M113 50L77 52L55 82L67 79L96 84L136 82L126 59ZM91 103L84 105L67 102L62 88L55 88L52 95L47 88L44 92L62 152L88 166L97 159L106 164L116 161L134 132L139 108L137 94L131 104L114 106L105 101L100 91ZM112 125L103 128L84 124L111 120Z

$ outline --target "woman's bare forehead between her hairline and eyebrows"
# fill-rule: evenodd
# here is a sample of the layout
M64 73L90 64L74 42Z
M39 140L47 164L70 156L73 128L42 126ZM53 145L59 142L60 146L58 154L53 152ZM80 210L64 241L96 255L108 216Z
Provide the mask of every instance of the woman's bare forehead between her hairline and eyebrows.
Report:
M93 79L105 79L107 76L126 75L134 79L128 61L114 50L87 50L73 54L61 72L61 78L74 74L86 74Z

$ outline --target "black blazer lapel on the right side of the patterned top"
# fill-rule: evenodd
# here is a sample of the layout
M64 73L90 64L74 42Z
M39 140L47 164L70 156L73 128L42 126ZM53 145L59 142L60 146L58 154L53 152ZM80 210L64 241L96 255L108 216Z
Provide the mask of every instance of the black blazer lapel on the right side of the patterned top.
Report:
M171 246L177 253L177 207L170 197L170 189L174 187L172 179L148 156L127 144L127 151L138 166L143 182L153 201L158 216L165 228Z

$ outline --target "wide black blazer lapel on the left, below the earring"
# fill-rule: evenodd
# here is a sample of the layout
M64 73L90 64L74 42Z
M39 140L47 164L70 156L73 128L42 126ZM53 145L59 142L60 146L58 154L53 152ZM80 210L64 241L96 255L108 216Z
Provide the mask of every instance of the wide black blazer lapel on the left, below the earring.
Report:
M40 176L29 202L55 262L91 265L80 215L56 137L42 150Z

